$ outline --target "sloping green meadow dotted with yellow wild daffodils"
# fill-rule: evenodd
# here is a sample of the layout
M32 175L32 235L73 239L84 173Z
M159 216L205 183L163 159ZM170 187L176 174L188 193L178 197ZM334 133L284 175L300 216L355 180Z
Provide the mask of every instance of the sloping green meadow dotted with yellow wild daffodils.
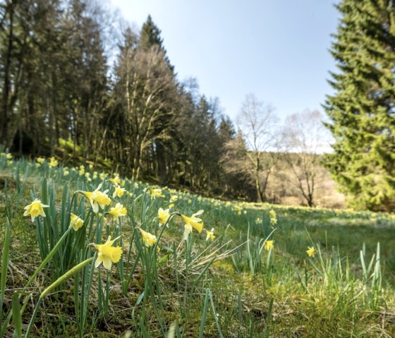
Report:
M0 337L395 337L395 215L0 155Z

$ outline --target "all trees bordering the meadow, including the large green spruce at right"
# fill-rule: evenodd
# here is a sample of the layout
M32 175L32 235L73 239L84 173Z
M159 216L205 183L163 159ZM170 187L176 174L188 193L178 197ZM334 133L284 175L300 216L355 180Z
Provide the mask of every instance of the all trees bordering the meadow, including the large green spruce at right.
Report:
M339 73L324 105L336 143L324 165L348 203L388 211L395 203L394 3L354 2L338 6ZM331 181L318 155L327 144L318 111L279 126L274 109L248 94L233 125L197 80L178 78L150 16L136 29L107 6L0 1L1 145L260 202L281 202L275 182L286 178L299 203L316 205L320 181Z

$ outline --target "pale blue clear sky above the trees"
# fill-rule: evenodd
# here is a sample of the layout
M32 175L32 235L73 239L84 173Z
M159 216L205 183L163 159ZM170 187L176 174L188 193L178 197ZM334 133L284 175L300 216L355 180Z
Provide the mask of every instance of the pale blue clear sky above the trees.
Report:
M150 14L178 79L197 78L235 119L253 92L284 119L320 109L335 71L329 54L334 0L111 0L141 27ZM336 1L338 2L338 1Z

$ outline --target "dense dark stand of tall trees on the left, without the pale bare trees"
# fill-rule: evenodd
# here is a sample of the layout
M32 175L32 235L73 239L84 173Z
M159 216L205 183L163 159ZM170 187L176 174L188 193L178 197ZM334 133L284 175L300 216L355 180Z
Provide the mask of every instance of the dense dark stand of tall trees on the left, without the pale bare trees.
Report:
M244 174L222 169L236 131L218 99L178 80L152 18L114 36L109 17L96 1L1 1L0 144L52 156L71 140L75 158L134 179L253 198Z

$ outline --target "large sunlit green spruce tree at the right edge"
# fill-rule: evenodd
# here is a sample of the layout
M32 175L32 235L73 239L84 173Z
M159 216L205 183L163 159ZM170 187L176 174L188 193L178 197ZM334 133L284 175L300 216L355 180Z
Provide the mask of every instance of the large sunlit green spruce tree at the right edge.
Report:
M343 0L331 53L339 73L324 108L334 136L326 166L349 205L395 207L395 1Z

